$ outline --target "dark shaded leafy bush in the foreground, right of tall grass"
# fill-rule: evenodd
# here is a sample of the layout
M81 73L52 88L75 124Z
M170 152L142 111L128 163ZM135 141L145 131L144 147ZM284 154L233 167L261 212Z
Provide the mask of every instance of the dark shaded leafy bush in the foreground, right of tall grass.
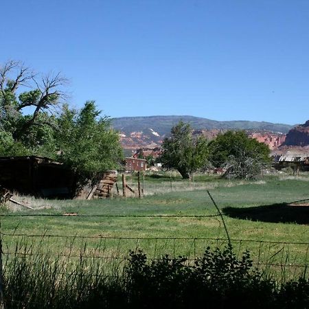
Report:
M249 252L238 260L231 248L211 251L187 264L187 258L163 256L148 262L141 251L130 253L127 290L134 306L146 308L267 308L274 282L252 268Z

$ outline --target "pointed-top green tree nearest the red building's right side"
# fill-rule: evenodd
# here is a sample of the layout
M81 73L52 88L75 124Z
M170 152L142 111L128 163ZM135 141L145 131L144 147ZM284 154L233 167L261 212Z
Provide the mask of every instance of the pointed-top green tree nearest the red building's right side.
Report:
M163 167L178 170L183 179L190 179L207 163L207 141L202 136L193 137L190 124L179 122L173 126L171 137L164 139L162 148Z

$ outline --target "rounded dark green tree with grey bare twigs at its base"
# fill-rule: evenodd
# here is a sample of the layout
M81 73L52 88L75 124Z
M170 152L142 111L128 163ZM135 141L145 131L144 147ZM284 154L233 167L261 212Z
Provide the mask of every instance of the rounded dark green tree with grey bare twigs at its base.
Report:
M253 179L271 162L270 150L264 143L247 137L244 131L227 131L209 143L210 160L224 168L225 176Z

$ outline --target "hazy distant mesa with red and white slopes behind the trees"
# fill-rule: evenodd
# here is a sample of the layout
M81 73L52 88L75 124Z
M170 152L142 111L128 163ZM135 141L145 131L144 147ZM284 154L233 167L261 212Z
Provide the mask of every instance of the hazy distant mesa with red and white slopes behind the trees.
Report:
M249 121L218 122L193 116L120 117L114 118L112 124L113 128L119 131L123 148L131 152L138 148L160 147L163 139L170 135L172 126L179 120L190 123L194 134L202 134L209 140L227 130L246 130L249 137L267 144L271 150L284 144L286 133L293 128L288 124Z

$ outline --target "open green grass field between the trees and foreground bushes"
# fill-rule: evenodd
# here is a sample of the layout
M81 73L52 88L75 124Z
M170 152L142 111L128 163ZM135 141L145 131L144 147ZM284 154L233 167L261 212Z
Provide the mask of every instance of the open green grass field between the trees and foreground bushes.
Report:
M135 177L128 178L128 183L136 186ZM113 259L139 248L149 258L165 253L195 258L207 246L227 244L220 216L207 217L218 214L209 190L224 214L234 250L249 249L255 263L276 264L281 270L282 264L288 265L293 275L304 269L295 265L304 266L309 260L309 207L288 203L309 198L308 187L308 175L266 176L256 182L196 176L194 183L188 183L168 174L146 176L141 199L117 195L92 201L26 198L39 209L3 209L1 231L8 234L3 236L3 251L16 251L19 242L27 243L27 252L39 248L49 254L78 255L83 249L88 255ZM23 246L19 250L25 252Z

